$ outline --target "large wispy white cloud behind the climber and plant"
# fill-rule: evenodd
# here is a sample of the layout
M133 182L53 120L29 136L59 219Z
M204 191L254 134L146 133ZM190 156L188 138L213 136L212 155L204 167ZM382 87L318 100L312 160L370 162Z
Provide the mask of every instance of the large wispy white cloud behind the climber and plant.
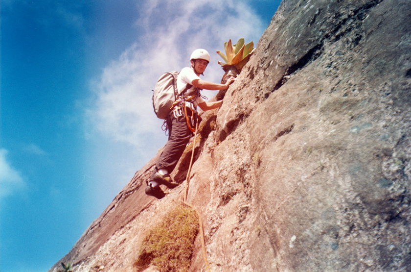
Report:
M161 134L151 103L160 74L189 65L190 53L204 48L211 54L204 79L219 82L224 72L215 51L228 39L256 45L265 30L245 0L147 0L140 10L136 26L145 34L104 69L86 110L98 133L137 148Z

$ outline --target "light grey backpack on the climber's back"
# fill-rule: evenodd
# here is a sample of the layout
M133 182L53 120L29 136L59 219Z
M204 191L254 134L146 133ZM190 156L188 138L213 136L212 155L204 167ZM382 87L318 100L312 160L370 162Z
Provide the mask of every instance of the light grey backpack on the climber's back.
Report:
M157 80L153 90L154 112L160 119L167 119L174 101L177 99L177 76L180 72L167 72Z

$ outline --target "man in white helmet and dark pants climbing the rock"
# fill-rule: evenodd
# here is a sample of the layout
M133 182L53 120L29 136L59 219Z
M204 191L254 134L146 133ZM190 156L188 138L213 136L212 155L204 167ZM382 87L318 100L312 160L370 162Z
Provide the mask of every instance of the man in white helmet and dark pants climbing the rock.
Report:
M174 107L167 117L166 125L169 131L168 141L161 152L160 159L157 162L149 180L145 193L156 198L163 198L164 192L160 185L168 188L175 188L179 184L173 182L170 173L174 170L179 161L185 146L193 136L193 129L189 127L188 115L196 116L196 108L199 106L203 111L220 107L222 100L208 102L203 99L200 90L226 90L234 82L234 78L227 80L226 84L218 84L202 80L199 76L204 73L210 55L205 49L196 49L190 56L190 67L181 70L177 77L177 91L180 101Z

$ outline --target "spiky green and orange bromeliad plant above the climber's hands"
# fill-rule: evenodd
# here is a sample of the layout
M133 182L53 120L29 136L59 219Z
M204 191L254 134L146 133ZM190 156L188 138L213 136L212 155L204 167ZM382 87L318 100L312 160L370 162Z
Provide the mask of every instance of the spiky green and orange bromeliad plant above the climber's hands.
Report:
M221 51L217 53L223 58L226 63L219 61L218 63L223 66L223 70L227 72L230 67L235 67L238 72L246 65L250 59L251 53L254 51L254 43L251 41L245 44L244 38L238 40L235 45L232 45L231 39L224 43L224 48L226 49L226 54Z

